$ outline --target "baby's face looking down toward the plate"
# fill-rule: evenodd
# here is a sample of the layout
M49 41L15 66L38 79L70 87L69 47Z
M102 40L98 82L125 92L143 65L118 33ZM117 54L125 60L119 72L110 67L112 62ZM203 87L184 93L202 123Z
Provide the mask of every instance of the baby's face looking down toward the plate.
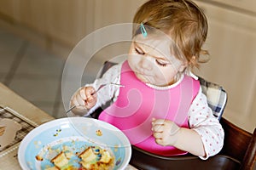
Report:
M171 40L166 37L138 35L131 43L128 63L139 80L156 86L175 82L178 71L186 62L175 58L170 50Z

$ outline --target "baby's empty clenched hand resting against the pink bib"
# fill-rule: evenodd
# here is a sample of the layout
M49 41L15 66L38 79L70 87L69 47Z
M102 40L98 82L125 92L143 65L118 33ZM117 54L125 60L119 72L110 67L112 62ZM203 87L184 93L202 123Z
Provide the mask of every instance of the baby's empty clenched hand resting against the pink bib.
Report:
M152 120L152 131L156 144L163 146L173 145L177 141L177 133L180 127L176 123L164 120L154 119Z

